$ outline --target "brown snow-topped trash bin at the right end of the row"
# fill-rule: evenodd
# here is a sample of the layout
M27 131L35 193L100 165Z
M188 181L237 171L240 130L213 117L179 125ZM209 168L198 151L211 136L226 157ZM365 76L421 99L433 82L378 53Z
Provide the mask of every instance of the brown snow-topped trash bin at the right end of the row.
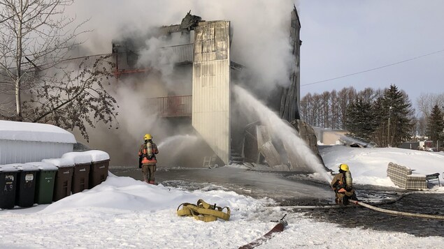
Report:
M110 156L105 151L85 151L91 156L92 165L89 172L89 188L94 188L108 177Z

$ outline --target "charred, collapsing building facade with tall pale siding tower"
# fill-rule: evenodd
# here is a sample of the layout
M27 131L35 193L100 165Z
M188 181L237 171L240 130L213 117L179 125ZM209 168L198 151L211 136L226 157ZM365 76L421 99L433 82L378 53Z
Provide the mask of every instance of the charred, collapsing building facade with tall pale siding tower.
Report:
M292 73L288 75L290 84L275 89L264 102L294 127L310 149L319 155L313 128L299 119L301 24L296 8L291 15L289 40L294 61ZM166 40L159 51L168 63L173 64L172 74L187 76L178 78L182 91L161 91L159 96L146 100L147 107L156 110L164 119L192 127L194 133L208 144L210 152L198 157L196 165L211 167L243 163L250 167L268 165L275 170L311 172L294 151L286 150L285 146L279 149L282 146L271 139L269 128L259 121L243 120L236 111L238 107L232 93L234 79L248 70L248 65L231 60L233 29L230 21L206 21L190 11L180 24L160 27L151 35ZM136 38L113 40L117 78L145 77L156 73L156 70L141 63L138 53L141 46L143 43L138 43Z

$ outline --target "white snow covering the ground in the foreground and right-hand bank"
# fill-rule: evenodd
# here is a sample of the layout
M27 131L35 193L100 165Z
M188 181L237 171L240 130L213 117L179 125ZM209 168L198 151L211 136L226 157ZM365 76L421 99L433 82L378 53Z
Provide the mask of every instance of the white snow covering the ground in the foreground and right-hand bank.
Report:
M327 167L348 163L355 183L393 186L390 161L415 174L444 171L444 153L332 146L322 151ZM441 175L442 177L442 175ZM286 213L272 199L253 199L217 188L187 191L108 176L99 186L53 204L0 211L0 248L238 248L274 227ZM443 192L443 187L430 191ZM437 193L439 194L439 193ZM229 206L229 221L178 217L183 202L203 199ZM441 207L437 207L441 209ZM444 237L344 228L289 213L283 232L258 248L439 248Z

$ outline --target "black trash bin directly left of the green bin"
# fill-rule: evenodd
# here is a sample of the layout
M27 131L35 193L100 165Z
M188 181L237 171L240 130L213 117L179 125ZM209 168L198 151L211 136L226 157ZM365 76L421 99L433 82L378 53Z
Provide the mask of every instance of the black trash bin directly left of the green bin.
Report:
M36 194L36 179L38 168L32 165L17 164L17 192L15 193L15 205L29 207L34 205Z

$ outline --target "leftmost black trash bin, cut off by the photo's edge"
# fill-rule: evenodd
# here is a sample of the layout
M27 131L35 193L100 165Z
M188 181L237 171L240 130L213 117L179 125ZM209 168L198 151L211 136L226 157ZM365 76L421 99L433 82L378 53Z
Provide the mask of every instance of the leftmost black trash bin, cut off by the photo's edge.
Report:
M13 209L15 206L17 173L18 169L13 165L0 165L0 209Z

